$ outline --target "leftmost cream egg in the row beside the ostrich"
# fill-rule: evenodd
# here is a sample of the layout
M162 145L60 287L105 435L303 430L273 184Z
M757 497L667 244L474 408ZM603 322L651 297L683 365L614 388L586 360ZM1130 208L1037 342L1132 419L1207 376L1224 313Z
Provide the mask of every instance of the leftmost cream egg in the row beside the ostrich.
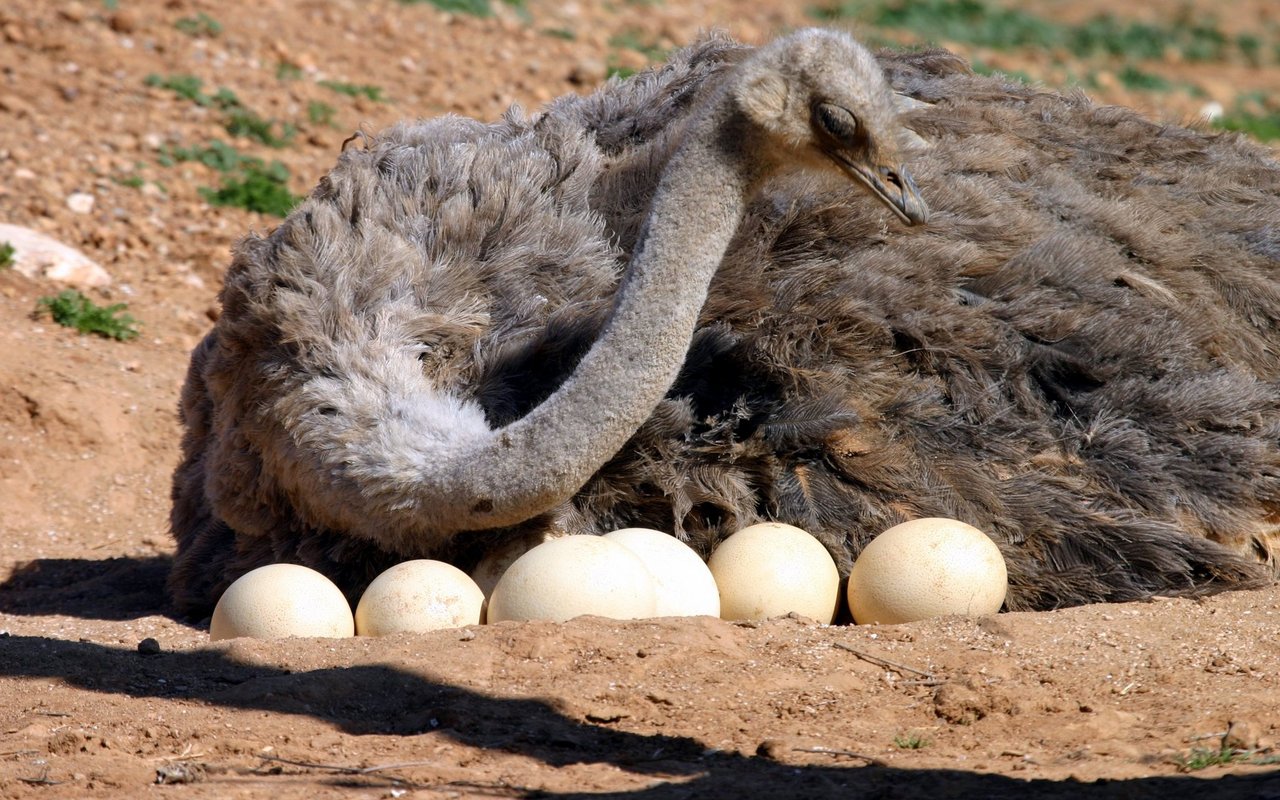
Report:
M283 639L351 636L351 605L324 575L301 564L268 564L246 572L214 607L209 637Z

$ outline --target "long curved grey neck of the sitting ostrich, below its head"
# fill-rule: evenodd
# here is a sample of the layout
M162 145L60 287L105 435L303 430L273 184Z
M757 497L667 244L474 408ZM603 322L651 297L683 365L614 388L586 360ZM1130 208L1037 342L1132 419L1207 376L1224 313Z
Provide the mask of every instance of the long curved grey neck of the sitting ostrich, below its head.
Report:
M749 125L721 95L691 123L659 182L613 312L545 402L444 470L453 530L513 525L573 495L671 388L707 288L764 173Z

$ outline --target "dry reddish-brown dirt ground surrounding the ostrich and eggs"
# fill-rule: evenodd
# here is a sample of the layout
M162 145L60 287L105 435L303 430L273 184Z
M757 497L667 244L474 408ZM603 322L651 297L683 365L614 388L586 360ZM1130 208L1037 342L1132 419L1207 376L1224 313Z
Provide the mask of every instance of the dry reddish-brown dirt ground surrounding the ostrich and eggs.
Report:
M105 266L91 297L128 303L142 335L60 328L33 310L61 287L0 270L0 796L1280 797L1277 589L890 627L580 618L340 641L211 644L168 613L183 371L230 244L276 220L211 206L198 189L221 175L166 151L228 141L301 193L357 128L534 108L643 67L625 42L760 41L808 23L804 5L5 3L0 223ZM1220 17L1274 31L1277 9ZM1280 86L1268 64L1167 68L1229 106ZM297 132L232 138L216 104L152 74L227 87ZM1183 119L1204 101L1100 86Z

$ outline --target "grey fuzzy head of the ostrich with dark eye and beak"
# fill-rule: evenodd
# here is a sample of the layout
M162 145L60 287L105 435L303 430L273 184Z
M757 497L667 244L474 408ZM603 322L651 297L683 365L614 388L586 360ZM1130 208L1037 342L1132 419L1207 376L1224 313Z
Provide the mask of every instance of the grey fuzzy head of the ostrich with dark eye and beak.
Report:
M856 180L904 223L928 207L902 166L900 105L876 59L850 37L801 31L762 47L733 87L740 111L773 137L776 159Z

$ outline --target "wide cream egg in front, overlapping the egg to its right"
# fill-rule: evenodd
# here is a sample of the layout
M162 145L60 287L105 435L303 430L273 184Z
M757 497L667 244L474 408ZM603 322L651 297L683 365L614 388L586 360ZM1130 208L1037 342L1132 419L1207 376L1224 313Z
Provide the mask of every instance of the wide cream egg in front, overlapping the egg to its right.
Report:
M582 614L654 616L654 582L639 556L604 536L562 536L512 562L489 595L489 622Z

